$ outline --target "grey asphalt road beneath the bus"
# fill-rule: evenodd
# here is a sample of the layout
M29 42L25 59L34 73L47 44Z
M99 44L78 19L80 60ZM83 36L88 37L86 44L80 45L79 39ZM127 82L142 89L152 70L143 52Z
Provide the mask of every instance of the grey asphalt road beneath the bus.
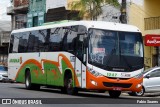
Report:
M42 87L41 90L26 90L24 84L17 84L17 83L0 83L0 98L14 98L18 100L19 98L25 100L23 98L28 98L29 100L34 98L39 100L42 98L42 102L49 102L54 105L47 104L47 106L56 106L56 107L71 107L73 104L76 104L76 107L132 107L139 101L143 104L138 105L141 107L150 107L150 104L145 104L145 101L157 101L156 99L160 100L160 93L154 94L145 94L144 97L132 97L128 96L126 93L122 93L119 99L112 99L109 97L108 93L92 93L92 92L80 92L76 96L71 96L67 94L62 94L60 90L45 88ZM17 99L16 99L17 98ZM47 98L47 99L43 99ZM79 104L80 103L80 104ZM128 103L128 104L127 104ZM67 105L66 105L67 104ZM152 104L153 106L160 106L159 104ZM4 106L4 105L3 105ZM3 107L2 106L2 107ZM8 107L10 105L5 105ZM15 107L23 107L28 105L15 105ZM33 106L33 105L30 105ZM35 105L39 107L39 105ZM42 107L46 105L41 105ZM136 104L137 106L137 104ZM1 107L1 105L0 105Z

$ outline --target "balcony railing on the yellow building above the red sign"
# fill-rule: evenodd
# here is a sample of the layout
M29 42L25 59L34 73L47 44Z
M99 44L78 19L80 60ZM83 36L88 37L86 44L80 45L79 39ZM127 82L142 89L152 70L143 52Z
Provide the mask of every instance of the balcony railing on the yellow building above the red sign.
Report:
M144 29L145 30L155 30L160 29L160 16L159 17L150 17L144 19Z

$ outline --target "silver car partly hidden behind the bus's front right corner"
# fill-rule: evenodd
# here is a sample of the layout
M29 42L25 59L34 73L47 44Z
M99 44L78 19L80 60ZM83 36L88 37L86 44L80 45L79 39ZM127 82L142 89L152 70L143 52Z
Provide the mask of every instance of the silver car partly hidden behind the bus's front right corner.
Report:
M143 86L140 92L129 92L131 96L143 96L144 93L160 92L160 67L143 72Z

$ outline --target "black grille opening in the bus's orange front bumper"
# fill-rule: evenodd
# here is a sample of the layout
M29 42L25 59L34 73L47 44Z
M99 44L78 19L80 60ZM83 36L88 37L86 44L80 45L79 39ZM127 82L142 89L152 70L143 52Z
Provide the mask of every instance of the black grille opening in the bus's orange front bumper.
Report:
M130 88L132 86L132 84L111 83L111 82L103 82L103 85L106 87L122 87L122 88Z

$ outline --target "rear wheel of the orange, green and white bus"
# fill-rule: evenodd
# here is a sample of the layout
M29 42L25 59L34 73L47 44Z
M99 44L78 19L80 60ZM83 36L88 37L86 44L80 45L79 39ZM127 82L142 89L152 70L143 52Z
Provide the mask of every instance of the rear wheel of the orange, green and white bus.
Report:
M26 74L25 74L25 87L27 90L32 90L32 89L39 90L40 89L39 85L31 83L30 71L26 71Z

